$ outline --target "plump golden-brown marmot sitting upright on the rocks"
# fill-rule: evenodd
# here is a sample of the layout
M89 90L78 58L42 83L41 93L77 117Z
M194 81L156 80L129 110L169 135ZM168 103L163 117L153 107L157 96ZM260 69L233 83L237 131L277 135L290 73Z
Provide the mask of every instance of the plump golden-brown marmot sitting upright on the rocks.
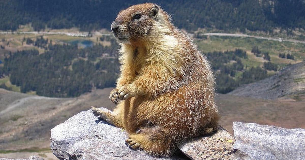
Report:
M169 157L182 141L217 128L210 64L164 10L131 6L111 29L121 46L121 74L109 97L117 106L112 113L92 110L124 128L129 147Z

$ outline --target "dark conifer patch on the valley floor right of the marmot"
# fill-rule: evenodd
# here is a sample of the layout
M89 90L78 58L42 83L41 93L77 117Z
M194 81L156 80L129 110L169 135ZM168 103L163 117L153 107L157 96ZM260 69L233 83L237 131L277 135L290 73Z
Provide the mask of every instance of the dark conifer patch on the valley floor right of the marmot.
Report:
M246 51L235 49L235 51L208 52L205 54L216 71L216 91L228 93L241 84L248 84L268 77L267 70L270 68L251 67L247 68L241 58L247 59ZM271 62L270 62L271 63ZM241 73L241 75L237 75Z

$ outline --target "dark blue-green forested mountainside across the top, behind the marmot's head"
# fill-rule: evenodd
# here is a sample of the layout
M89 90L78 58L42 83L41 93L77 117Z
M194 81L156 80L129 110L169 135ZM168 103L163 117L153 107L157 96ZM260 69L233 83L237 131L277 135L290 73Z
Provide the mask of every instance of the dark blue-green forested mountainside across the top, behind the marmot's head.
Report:
M160 4L173 15L174 24L187 30L270 31L305 26L303 0L1 0L0 30L16 30L28 23L35 30L109 28L121 9L144 2Z

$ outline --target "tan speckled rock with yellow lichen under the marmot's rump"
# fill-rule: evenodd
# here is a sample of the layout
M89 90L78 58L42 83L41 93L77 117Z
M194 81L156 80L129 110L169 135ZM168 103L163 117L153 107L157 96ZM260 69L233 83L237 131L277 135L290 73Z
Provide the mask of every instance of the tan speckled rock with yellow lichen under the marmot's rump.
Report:
M180 150L191 159L229 159L233 154L234 137L224 128L211 136L203 136L179 145Z

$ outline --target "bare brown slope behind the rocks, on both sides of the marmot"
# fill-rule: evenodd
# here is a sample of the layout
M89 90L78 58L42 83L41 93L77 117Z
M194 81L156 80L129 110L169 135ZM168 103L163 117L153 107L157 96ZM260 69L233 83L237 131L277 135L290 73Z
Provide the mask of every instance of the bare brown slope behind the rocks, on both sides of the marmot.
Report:
M50 129L90 106L114 105L108 96L112 88L95 90L78 98L47 98L0 89L0 157L24 158L50 152ZM303 100L264 100L218 94L220 124L231 134L232 122L254 122L284 128L305 128ZM37 146L39 146L37 148ZM36 147L36 148L35 148ZM28 152L28 150L31 152ZM13 150L9 152L4 152ZM53 157L54 158L54 157Z

